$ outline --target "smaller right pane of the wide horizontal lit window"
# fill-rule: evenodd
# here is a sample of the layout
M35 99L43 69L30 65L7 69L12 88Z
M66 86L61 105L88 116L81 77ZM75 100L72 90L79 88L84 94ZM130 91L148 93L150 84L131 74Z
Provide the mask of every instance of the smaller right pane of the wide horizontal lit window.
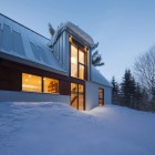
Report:
M59 81L54 79L43 78L44 93L59 93Z

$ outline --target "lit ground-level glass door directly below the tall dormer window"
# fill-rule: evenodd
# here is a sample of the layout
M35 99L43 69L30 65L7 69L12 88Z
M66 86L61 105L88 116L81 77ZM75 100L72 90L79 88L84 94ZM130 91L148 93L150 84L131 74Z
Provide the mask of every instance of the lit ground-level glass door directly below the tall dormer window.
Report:
M84 99L84 85L71 83L71 106L83 111L85 108Z

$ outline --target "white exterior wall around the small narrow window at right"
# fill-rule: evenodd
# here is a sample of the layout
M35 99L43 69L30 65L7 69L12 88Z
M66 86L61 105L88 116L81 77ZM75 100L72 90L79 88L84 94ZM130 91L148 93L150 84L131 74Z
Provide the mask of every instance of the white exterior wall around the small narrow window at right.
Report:
M85 82L85 110L92 110L99 106L99 89L104 89L104 104L112 103L112 87Z

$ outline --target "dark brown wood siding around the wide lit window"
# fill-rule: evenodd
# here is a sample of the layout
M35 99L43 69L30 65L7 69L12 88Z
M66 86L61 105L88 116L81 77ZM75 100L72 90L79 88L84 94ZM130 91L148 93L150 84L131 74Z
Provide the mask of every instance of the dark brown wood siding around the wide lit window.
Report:
M70 79L65 75L48 72L12 61L0 60L0 90L22 91L22 73L46 76L59 80L62 95L70 95Z

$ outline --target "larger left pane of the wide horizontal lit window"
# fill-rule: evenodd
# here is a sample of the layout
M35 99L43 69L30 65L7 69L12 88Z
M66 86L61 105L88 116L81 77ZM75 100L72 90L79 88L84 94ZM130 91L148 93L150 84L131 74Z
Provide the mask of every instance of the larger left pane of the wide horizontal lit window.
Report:
M22 91L42 92L41 76L22 73Z

